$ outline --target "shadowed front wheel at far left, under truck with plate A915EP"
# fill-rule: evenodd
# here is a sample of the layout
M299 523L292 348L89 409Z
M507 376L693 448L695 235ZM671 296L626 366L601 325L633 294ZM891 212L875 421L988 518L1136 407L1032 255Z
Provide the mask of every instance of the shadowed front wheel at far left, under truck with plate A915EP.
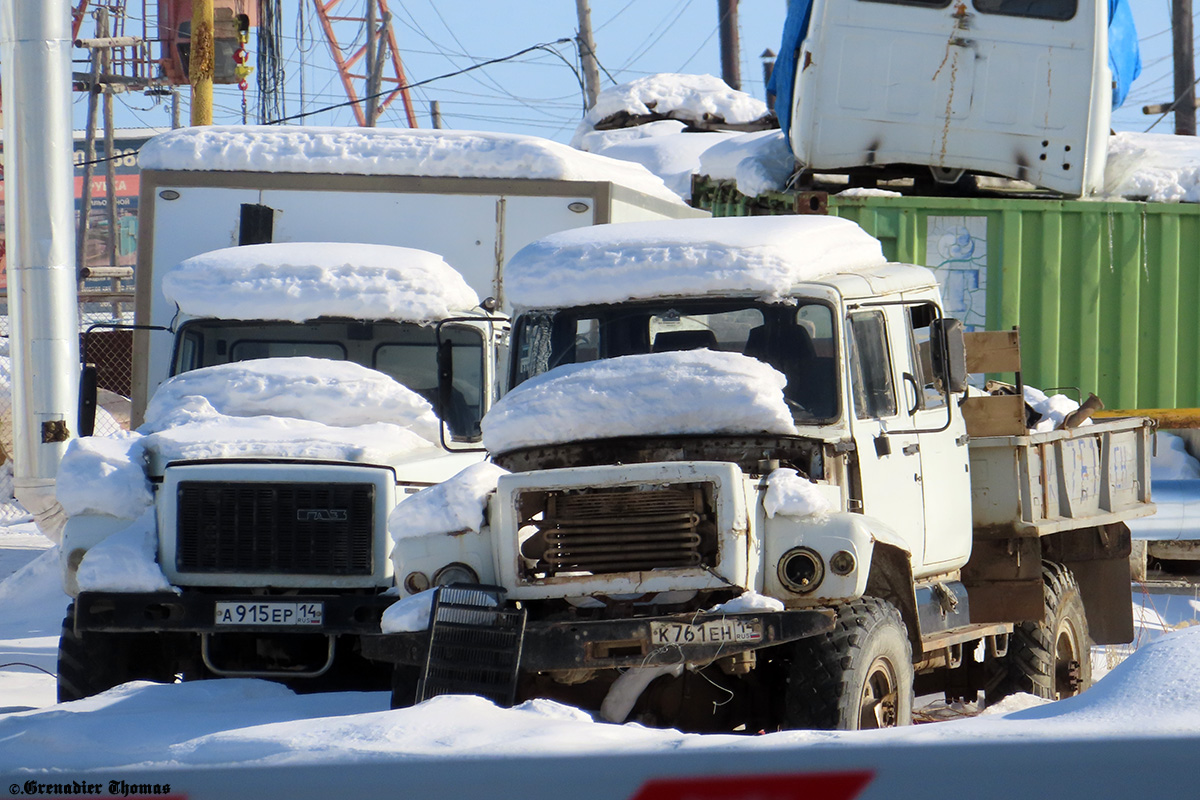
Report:
M59 703L78 700L131 680L170 684L175 674L154 634L76 633L74 606L59 636Z

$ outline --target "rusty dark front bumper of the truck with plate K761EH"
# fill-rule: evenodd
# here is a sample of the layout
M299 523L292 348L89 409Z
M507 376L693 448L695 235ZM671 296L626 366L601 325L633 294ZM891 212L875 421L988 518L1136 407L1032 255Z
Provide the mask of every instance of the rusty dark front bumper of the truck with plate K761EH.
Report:
M762 636L754 642L671 640L666 626L679 631L725 626L737 620L758 622ZM709 663L716 658L796 642L832 631L833 612L802 609L744 614L676 614L620 620L530 621L521 649L522 672L662 667ZM378 628L377 628L378 630ZM682 637L680 637L682 638ZM374 661L422 666L430 632L374 633L364 636L362 655Z

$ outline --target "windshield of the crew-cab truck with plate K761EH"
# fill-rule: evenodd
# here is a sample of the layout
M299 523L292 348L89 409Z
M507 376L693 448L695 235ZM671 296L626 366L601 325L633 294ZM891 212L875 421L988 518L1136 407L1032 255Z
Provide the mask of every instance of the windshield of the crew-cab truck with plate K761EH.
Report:
M740 353L784 373L797 421L839 413L833 309L816 300L672 301L524 314L516 329L511 385L564 363L707 348Z

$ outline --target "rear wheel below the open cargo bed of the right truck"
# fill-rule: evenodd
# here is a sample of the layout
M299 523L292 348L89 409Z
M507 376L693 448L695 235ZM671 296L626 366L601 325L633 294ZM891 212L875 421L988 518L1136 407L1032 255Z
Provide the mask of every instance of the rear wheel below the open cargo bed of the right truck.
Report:
M1092 685L1092 639L1075 576L1061 564L1043 561L1042 581L1045 616L1013 630L989 703L1018 692L1060 700Z

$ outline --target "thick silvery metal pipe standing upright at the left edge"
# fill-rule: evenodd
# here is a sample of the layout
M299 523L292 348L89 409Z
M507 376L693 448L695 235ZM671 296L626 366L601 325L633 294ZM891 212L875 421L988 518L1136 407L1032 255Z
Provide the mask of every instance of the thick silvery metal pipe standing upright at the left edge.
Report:
M66 0L0 0L13 473L58 541L54 476L78 417L71 14Z

